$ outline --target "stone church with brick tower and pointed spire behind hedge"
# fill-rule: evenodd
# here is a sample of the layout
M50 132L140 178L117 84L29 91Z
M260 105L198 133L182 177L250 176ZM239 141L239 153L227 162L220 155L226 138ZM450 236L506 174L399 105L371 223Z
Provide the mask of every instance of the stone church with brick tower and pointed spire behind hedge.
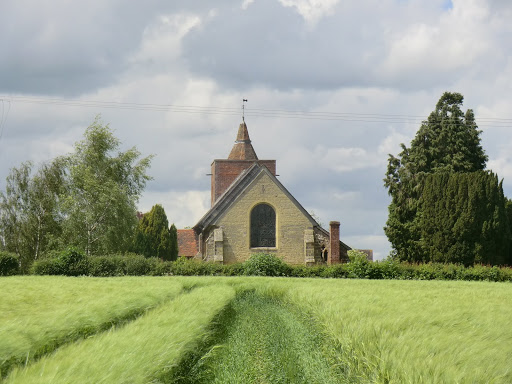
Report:
M288 264L336 264L351 248L340 223L322 228L260 160L245 120L227 159L211 165L211 208L192 229L178 230L179 256L224 264L272 253Z

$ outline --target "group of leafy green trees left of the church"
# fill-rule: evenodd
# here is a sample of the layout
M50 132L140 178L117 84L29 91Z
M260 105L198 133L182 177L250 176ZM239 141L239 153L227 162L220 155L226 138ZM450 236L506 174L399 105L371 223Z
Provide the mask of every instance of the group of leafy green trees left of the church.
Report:
M137 219L152 156L120 147L96 118L72 153L11 169L0 191L0 250L16 254L22 272L69 246L87 256L131 251L177 258L176 227L169 228L161 206Z

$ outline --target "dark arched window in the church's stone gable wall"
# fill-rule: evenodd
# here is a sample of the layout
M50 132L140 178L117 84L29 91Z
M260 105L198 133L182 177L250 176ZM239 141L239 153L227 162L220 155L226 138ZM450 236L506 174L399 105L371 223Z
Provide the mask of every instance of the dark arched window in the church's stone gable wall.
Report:
M276 211L258 204L251 212L251 248L276 246Z

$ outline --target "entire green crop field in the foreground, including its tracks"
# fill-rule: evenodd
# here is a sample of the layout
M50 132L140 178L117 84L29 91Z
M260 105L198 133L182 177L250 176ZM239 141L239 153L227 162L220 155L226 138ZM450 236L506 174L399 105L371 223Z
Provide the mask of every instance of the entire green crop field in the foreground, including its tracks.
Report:
M0 279L2 383L511 383L512 284Z

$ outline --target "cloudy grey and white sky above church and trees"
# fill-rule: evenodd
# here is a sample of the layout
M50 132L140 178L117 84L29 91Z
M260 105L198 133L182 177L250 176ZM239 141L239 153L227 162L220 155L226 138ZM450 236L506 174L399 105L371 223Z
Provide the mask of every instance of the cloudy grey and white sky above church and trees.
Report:
M509 0L3 0L0 190L101 114L123 149L155 155L139 210L193 226L247 99L258 157L342 241L385 258L388 154L445 91L474 110L512 197L511 19Z

